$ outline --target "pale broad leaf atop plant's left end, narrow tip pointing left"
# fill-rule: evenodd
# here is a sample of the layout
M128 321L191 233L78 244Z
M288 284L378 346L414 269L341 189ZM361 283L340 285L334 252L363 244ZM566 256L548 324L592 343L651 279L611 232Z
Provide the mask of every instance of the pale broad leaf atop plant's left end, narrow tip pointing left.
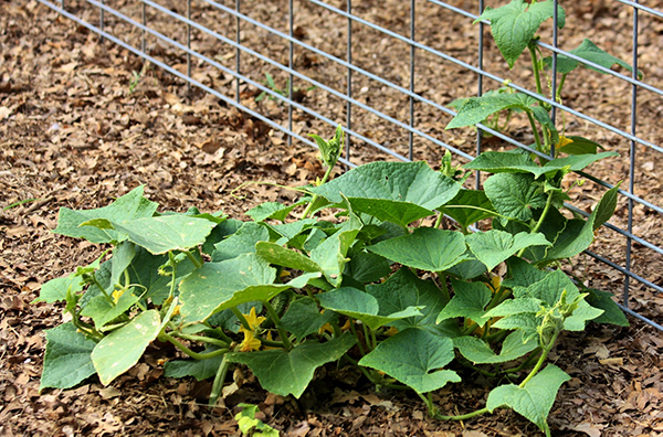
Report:
M138 246L151 254L161 255L170 251L188 251L204 243L215 222L189 215L161 215L131 221L113 222L95 218L82 225L102 230L117 230L128 235Z

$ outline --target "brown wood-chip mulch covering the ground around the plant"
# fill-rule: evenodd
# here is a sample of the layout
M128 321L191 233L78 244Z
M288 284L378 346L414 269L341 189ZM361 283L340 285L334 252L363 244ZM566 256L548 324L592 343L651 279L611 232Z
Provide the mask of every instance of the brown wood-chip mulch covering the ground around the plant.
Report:
M385 8L392 8L393 13L389 14L376 9L375 3L361 2L355 12L382 25L400 25L401 33L407 34L408 21L402 19L403 14L407 17L407 6L401 4L404 2L385 2ZM469 8L464 3L471 2L457 3ZM628 17L620 15L620 8L602 1L587 3L570 7L578 17L578 24L568 30L567 35L575 35L573 30L577 33L597 32L599 38L600 32L609 31L629 34L628 26L620 28L619 23L628 22ZM245 8L252 11L252 17L264 22L283 15L283 11L272 10L270 2L262 2L254 9ZM334 22L333 17L308 4L303 6L299 13L298 17L303 17L302 38L330 52L339 51L329 45L324 26L344 29L343 23ZM309 21L306 21L306 13L311 14ZM434 18L421 20L421 41L454 51L467 61L474 58L475 53L463 52L466 44L475 46L474 41L467 36L470 42L466 42L459 36L464 35L465 21L453 21L428 2L422 4L419 13ZM206 17L210 19L210 14ZM435 20L442 20L453 29L442 41L433 29ZM119 23L116 25L122 29ZM112 29L112 24L109 26ZM640 67L650 75L651 84L661 86L663 71L657 65L663 50L663 24L651 20L645 22L645 28L651 32L642 42ZM248 43L260 45L260 35L251 36L248 30ZM357 26L355 31L357 40L362 42L357 46L358 64L392 81L407 82L407 70L391 67L397 60L406 58L402 53L407 47L394 44L390 51L386 49L388 43L382 43L381 38L368 29ZM337 36L343 38L343 34ZM200 50L212 51L213 47L208 47L206 40L200 39ZM629 43L624 41L628 39L608 40L611 52L628 58ZM575 46L578 42L569 36L569 41L562 43ZM385 47L379 62L369 54L375 53L376 46ZM285 53L269 44L265 50L273 50L273 56ZM155 52L159 51L155 49ZM99 253L99 247L86 242L50 233L55 227L59 207L103 206L145 184L146 194L165 209L223 210L242 218L244 211L260 202L294 199L292 191L271 185L250 185L241 190L243 199L232 195L243 182L304 184L322 177L322 169L308 146L298 142L288 146L280 132L196 88L188 90L180 81L158 68L147 68L144 77L131 87L131 72L143 67L139 58L108 42L99 44L96 35L34 1L0 0L0 207L35 199L0 212L0 435L239 435L233 416L238 412L236 405L242 402L259 404L265 423L293 436L540 435L533 424L507 411L466 423L433 422L428 419L418 397L388 391L376 393L357 375L343 374L333 367L320 371L298 401L270 395L250 374L235 372L235 381L243 383L241 388L228 395L219 407L209 411L206 399L210 383L159 377L162 367L158 358L168 351L157 347L148 350L145 360L108 387L91 379L75 390L40 394L43 330L60 323L62 313L59 306L30 302L38 297L42 284L90 263ZM232 63L232 58L224 55L222 53L221 58ZM343 53L337 55L343 56ZM173 57L172 62L181 64L181 55ZM440 103L472 93L475 82L472 75L463 76L452 66L427 66L425 58L422 55L420 60L419 93L428 93ZM244 62L243 71L257 81L264 78L264 65L252 64L250 60ZM297 62L301 68L307 68L307 73L315 74L320 81L337 77L335 75L343 77L339 68L311 54L297 53ZM486 62L496 71L501 68L494 47L488 47ZM197 73L201 77L207 75L207 81L232 95L234 82L229 77L206 73L202 66ZM614 124L628 117L625 86L618 84L621 88L615 88L610 83L602 83L602 76L597 78L587 72L582 75L578 82L582 86L569 85L567 103ZM457 77L463 78L457 81ZM359 99L375 105L378 97L382 98L383 110L392 111L394 117L402 116L399 111L406 105L399 103L398 96L391 99L389 92L379 94L379 87L373 89L375 84L362 81L357 78ZM445 81L456 81L460 90L435 92L449 89L443 86ZM361 93L365 87L368 90ZM250 87L242 88L244 104L283 120L284 107L271 100L259 105L254 102L255 95ZM334 109L337 113L329 117L344 119L344 106L325 93L313 90L305 98L306 105L316 110L337 107ZM656 117L660 99L645 95L641 105L640 117L644 120L641 136L661 143L663 135ZM472 148L466 146L470 131L443 132L448 120L432 111L427 114L425 108L418 110L420 128L430 135L440 135L452 145ZM391 141L391 147L406 152L402 145L407 145L407 135L402 131L375 122L361 111L356 116L355 125L362 135L381 143ZM599 139L628 157L627 141L592 130L577 120L569 119L568 122L582 135ZM303 134L317 131L325 135L329 131L302 114L296 115L295 126ZM519 129L516 122L516 136L522 135ZM386 159L370 147L356 146L354 162ZM663 161L644 148L639 148L638 153L638 168L642 170L638 172L639 195L661 205L663 189L659 169ZM430 145L417 143L415 157L435 164L440 156L441 151ZM592 172L615 182L628 177L625 162L628 159L598 164L592 167ZM586 209L597 200L596 189L585 186L576 190L573 195L575 202ZM635 218L634 232L661 246L661 217L636 207ZM613 223L623 225L624 222L625 206L620 204ZM600 237L602 243L597 243L594 249L622 263L623 242L608 231L601 231ZM642 247L635 249L635 271L662 285L661 256ZM615 271L585 259L580 259L575 268L593 287L620 292L623 278ZM639 285L632 286L632 294L635 309L661 321L663 296ZM587 332L567 333L560 339L550 360L572 380L562 386L550 414L555 436L663 436L660 372L663 338L661 332L638 320L631 319L631 323L628 329L590 324ZM484 405L491 382L467 377L464 381L435 394L434 401L442 411L466 413Z

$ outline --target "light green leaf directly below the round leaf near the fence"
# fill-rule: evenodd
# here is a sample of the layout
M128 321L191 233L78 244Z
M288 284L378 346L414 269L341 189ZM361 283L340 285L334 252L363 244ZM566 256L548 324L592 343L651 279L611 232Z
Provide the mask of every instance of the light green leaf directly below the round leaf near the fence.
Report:
M506 260L518 251L529 246L550 246L544 234L520 232L512 235L504 231L477 232L465 237L470 251L488 270Z

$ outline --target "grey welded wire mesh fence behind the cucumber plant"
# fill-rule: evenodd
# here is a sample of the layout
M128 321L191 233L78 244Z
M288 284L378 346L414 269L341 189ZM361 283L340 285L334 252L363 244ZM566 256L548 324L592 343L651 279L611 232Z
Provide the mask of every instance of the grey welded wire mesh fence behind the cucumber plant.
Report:
M623 181L615 216L600 230L603 243L586 251L586 263L601 266L603 274L586 280L596 288L621 289L624 311L663 330L656 307L663 294L663 238L657 232L663 177L656 164L663 162L657 126L663 2L561 4L567 7L564 29L557 24L565 17L556 12L536 42L536 50L550 56L544 79L551 95L566 79L557 74L560 56L586 68L559 98L539 94L526 68L509 70L490 35L490 22L477 20L504 1L39 2L146 60L128 78L134 81L129 86L144 79L147 65L162 68L182 86L198 87L249 114L288 143L316 147L307 132L325 135L341 122L346 150L340 161L347 167L371 160L434 163L445 150L465 163L481 151L513 147L548 159L532 148L526 117L515 115L508 126L494 117L474 129L444 129L456 114L457 98L506 86L544 102L560 131L581 132L620 153L609 164L577 172L591 183L571 191L567 204L572 213L588 216L592 201ZM632 72L565 50L586 34L632 65ZM532 61L523 58L519 64ZM481 182L482 174L475 174L472 183Z

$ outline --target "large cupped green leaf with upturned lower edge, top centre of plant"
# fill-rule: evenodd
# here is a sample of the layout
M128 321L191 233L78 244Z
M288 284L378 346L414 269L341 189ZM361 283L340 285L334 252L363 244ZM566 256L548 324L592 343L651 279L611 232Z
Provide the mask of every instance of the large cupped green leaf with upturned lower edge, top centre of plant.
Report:
M311 191L335 204L344 202L343 194L355 213L407 226L432 215L460 189L459 182L425 162L371 162Z

